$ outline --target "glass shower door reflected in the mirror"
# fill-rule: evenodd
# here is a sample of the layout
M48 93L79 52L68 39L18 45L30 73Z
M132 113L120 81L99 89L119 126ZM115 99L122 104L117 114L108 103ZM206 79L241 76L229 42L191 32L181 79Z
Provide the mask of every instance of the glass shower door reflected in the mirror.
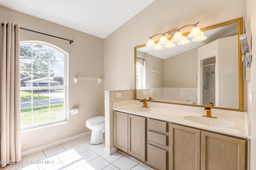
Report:
M215 103L215 63L202 66L202 104Z

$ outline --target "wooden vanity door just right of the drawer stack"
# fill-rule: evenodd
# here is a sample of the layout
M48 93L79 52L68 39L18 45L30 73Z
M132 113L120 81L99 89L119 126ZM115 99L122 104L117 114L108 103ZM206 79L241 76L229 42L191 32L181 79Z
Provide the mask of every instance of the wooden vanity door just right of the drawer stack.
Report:
M200 130L170 124L170 169L200 170Z

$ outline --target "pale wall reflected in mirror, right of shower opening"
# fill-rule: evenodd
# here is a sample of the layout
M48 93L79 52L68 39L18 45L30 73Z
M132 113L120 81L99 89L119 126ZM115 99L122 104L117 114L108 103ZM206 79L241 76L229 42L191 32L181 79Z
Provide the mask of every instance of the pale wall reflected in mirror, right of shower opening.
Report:
M238 109L237 46L237 35L218 40L219 107Z

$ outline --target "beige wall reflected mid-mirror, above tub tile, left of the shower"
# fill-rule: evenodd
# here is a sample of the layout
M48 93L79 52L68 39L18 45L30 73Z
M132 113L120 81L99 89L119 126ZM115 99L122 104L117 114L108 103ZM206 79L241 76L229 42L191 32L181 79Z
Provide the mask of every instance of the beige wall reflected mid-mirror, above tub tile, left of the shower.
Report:
M164 59L164 87L196 88L196 75L197 49Z

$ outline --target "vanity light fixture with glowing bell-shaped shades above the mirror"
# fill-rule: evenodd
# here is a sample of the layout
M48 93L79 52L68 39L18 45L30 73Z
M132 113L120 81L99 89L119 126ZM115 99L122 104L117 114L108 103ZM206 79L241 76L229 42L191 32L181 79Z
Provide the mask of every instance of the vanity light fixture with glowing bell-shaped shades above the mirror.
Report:
M199 22L197 22L195 24L184 25L183 27L180 27L179 29L169 30L169 31L166 31L165 33L155 34L155 35L149 37L149 40L146 43L146 46L153 47L153 49L159 50L159 49L163 48L162 44L164 44L164 47L166 47L166 48L174 47L175 44L173 41L178 41L178 43L177 43L178 45L188 44L188 43L190 43L190 41L187 39L187 37L182 35L182 33L180 32L180 29L187 27L187 26L193 26L190 33L188 34L188 37L194 37L192 39L192 41L195 41L195 42L204 41L207 37L200 30L200 28L196 25L198 23ZM172 37L171 40L168 40L168 38L166 37L165 34L167 34L167 33L170 37ZM162 35L157 44L153 40L153 37L156 35Z

